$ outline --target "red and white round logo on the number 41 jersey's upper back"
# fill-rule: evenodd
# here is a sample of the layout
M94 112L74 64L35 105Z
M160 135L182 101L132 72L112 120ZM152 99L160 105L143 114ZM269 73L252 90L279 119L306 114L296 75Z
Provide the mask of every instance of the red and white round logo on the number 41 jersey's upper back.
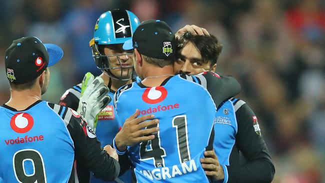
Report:
M148 87L142 94L142 99L146 103L155 104L164 100L167 96L167 90L163 86Z

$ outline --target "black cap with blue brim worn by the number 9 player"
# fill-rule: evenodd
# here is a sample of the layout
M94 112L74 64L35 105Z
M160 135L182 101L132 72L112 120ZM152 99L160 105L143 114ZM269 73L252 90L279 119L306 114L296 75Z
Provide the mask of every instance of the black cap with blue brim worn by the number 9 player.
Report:
M43 44L37 37L13 40L4 57L7 78L12 83L31 81L62 57L62 48L55 44Z

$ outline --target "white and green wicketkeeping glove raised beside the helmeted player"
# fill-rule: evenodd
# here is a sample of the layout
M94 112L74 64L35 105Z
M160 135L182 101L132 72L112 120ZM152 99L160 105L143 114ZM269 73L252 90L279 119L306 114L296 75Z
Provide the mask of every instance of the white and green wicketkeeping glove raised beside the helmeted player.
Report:
M91 129L95 130L97 114L111 100L107 95L108 87L104 84L101 77L94 77L87 72L81 85L81 97L77 112L86 120Z

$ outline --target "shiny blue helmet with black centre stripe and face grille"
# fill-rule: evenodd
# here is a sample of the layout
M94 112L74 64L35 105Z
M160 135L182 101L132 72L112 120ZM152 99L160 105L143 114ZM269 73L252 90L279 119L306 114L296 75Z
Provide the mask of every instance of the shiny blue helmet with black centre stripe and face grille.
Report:
M114 75L110 72L110 69L130 68L133 70L133 65L123 66L119 56L127 56L132 53L123 53L115 55L105 55L103 51L98 49L99 45L109 44L123 44L126 40L132 39L132 35L136 27L140 24L139 19L128 10L115 9L112 11L106 11L102 13L96 21L94 26L94 36L90 40L89 46L92 49L93 58L96 66L100 70L106 71L106 73L113 78L120 80L129 80L130 78L121 79L121 75ZM113 67L109 59L112 56L117 57L119 62L118 67Z

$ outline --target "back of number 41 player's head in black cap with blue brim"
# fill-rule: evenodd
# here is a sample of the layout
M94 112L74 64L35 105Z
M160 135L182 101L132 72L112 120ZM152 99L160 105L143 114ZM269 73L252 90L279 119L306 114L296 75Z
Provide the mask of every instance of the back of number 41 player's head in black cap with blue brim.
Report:
M173 63L175 46L174 34L164 21L146 20L135 29L132 40L126 41L123 48L136 48L146 62L164 67Z

